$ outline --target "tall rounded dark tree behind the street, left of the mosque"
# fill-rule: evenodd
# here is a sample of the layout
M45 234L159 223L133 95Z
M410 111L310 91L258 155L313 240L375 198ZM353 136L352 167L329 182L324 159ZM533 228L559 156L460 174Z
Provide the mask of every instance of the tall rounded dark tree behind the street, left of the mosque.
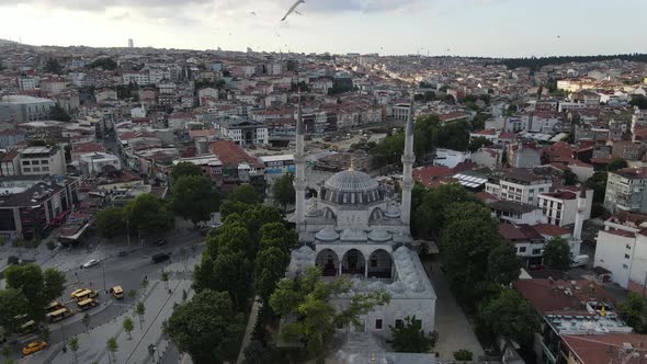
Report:
M174 180L172 193L173 211L184 219L190 219L194 226L211 219L220 202L209 180L202 175L185 175Z

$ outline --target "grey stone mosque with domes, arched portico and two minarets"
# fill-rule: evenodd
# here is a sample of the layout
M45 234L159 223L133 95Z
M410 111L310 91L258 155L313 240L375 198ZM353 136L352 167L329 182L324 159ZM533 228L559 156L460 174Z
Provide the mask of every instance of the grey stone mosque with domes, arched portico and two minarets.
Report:
M325 277L352 280L355 293L389 293L388 305L375 307L361 318L363 327L344 328L353 334L388 338L388 327L401 325L407 316L416 316L425 332L434 331L436 295L412 248L409 229L416 159L412 103L406 127L399 203L388 198L377 181L354 170L352 164L322 185L308 185L304 136L299 104L294 181L299 248L292 251L287 276L316 265ZM308 200L307 191L315 191ZM349 305L349 297L337 297L332 302L342 308Z

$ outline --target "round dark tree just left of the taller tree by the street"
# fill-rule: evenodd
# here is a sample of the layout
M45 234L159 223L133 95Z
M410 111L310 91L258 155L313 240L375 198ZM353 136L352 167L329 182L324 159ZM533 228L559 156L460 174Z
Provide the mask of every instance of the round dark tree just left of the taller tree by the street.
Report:
M146 234L159 234L175 225L173 213L150 193L140 194L128 203L124 208L124 215L132 228L141 229Z

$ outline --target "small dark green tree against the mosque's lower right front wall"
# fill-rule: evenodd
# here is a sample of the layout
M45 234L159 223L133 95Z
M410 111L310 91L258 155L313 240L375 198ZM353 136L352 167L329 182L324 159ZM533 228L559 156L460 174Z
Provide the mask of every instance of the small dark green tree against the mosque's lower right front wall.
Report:
M438 333L424 333L422 321L416 316L407 316L404 325L395 328L389 325L388 328L393 338L387 342L399 353L428 353L438 341Z

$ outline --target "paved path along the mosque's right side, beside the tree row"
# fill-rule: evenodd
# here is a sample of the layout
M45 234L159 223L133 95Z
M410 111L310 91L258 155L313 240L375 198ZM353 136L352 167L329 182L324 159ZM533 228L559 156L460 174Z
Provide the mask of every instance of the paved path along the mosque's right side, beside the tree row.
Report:
M465 314L454 299L450 285L440 271L438 264L433 265L431 282L438 295L435 304L435 328L439 340L435 351L440 354L441 361L454 360L454 352L467 349L474 353L474 357L484 355L483 348L474 334L474 328L467 321ZM425 264L425 269L428 269Z

